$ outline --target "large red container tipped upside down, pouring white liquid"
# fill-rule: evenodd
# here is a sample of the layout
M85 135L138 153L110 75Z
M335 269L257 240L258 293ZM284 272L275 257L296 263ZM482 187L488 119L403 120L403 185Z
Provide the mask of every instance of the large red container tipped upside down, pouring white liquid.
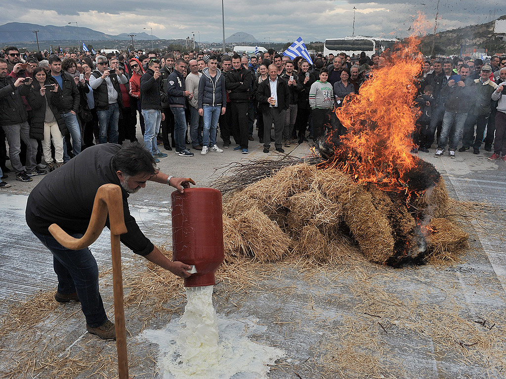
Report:
M215 285L215 271L225 258L221 192L185 188L184 194L174 191L171 200L173 258L197 269L185 278L185 287Z

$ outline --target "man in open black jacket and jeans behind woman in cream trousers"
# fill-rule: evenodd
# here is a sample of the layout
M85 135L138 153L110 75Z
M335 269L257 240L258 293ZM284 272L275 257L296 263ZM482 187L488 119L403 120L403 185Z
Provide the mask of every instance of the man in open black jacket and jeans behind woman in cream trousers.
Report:
M62 61L56 54L50 56L48 61L51 68L51 77L55 80L55 83L58 83L62 91L63 102L59 111L72 137L72 151L76 156L81 152L81 129L76 116L77 111L79 111L79 90L74 79L69 74L62 72ZM70 160L65 141L63 143L63 160L65 162Z

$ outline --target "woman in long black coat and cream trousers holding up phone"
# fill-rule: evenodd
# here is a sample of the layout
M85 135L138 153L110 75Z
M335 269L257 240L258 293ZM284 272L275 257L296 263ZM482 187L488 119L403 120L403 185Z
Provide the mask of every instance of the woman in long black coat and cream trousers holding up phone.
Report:
M44 160L49 171L53 171L63 165L63 136L68 134L65 121L58 112L63 101L62 92L58 90L56 80L49 78L41 67L33 70L33 79L28 97L32 108L30 138L42 141ZM55 147L56 165L51 156L51 137Z

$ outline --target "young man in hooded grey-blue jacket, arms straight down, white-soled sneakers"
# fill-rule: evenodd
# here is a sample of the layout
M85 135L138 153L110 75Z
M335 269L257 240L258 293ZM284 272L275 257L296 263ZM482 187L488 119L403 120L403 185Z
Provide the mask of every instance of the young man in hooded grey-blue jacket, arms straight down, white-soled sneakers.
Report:
M224 115L227 109L225 78L218 70L216 56L210 56L207 65L198 83L198 113L204 117L201 155L206 155L208 150L223 153L216 145L216 130L220 114Z

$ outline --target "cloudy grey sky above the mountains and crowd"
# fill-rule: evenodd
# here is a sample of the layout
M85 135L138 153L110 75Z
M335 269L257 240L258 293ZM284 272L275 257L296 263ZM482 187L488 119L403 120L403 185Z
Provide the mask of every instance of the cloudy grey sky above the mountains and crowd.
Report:
M417 12L424 13L432 32L437 4L437 0L225 0L225 37L238 31L259 41L343 37L352 34L353 7L355 35L404 37ZM503 0L440 0L438 30L484 23L504 14ZM152 27L160 38L186 38L197 30L201 41L218 42L222 37L219 0L18 0L0 14L0 24L12 21L61 26L77 21L79 27L108 34ZM195 38L198 41L197 33Z

